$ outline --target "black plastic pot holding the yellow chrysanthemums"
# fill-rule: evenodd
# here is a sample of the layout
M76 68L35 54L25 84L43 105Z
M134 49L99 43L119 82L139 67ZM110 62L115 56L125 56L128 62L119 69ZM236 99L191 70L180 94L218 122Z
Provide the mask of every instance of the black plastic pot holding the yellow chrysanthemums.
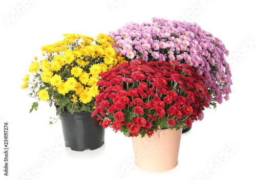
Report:
M99 125L92 113L60 113L61 126L66 147L74 151L98 149L104 143L105 129Z

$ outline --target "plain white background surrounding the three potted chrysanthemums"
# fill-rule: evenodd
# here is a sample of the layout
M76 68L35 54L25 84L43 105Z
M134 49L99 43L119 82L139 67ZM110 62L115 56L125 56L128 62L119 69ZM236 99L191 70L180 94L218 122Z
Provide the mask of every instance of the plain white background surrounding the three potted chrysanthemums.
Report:
M116 6L110 2L116 2ZM0 179L6 178L2 168L3 121L10 124L9 177L6 179L255 177L256 13L251 2L1 1ZM14 11L19 14L15 16ZM195 21L225 43L230 52L228 62L233 81L230 100L223 101L217 110L205 110L204 120L194 123L193 128L182 135L178 166L170 171L154 173L136 167L131 158L132 140L111 129L106 129L105 144L100 149L76 152L63 147L60 122L48 124L49 117L55 115L54 107L41 102L37 111L29 113L34 100L20 88L33 57L42 58L40 48L61 40L63 33L96 37L99 32L114 31L130 21L151 22L151 17Z

